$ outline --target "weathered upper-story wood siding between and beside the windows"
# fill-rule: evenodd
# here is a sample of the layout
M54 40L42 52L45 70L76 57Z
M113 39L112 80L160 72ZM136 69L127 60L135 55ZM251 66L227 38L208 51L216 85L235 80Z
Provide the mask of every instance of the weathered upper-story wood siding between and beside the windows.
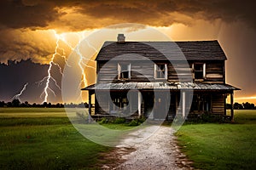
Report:
M125 61L122 61L125 62ZM123 82L118 80L118 61L108 62L108 66L104 65L105 61L97 63L97 82ZM131 63L131 79L125 82L153 82L159 81L154 79L154 62L148 61L126 61ZM165 61L156 62L156 64L164 64ZM189 65L184 62L172 62L167 64L167 81L168 82L191 82L193 81L193 63L189 61ZM100 72L99 72L100 71ZM224 83L225 82L224 61L207 61L205 78L201 82L208 83Z

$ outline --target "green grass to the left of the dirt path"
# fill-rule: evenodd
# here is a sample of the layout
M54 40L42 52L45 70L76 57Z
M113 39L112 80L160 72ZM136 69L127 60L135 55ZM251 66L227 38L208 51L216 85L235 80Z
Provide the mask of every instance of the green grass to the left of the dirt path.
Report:
M63 109L2 108L0 150L0 169L95 169L113 148L85 139Z

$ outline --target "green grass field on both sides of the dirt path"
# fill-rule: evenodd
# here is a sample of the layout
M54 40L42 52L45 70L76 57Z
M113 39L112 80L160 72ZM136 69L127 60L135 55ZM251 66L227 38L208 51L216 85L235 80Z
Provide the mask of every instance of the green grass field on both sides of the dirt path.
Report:
M185 124L176 133L195 167L256 167L256 111L236 111L235 116L234 124ZM0 169L95 169L114 161L104 157L113 148L85 139L64 109L1 108L0 150Z

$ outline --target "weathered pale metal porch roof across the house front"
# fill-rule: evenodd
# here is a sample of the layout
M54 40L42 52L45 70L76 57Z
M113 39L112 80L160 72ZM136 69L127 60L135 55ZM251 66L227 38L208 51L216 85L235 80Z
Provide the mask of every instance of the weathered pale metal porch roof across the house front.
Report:
M229 84L208 84L196 82L120 82L98 83L90 85L82 90L125 90L125 89L171 89L171 90L240 90Z

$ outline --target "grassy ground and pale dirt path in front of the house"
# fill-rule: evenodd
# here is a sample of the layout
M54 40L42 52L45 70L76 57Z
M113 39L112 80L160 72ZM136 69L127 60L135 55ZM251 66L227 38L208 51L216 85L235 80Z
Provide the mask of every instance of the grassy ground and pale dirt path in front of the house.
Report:
M185 169L191 161L196 169L254 169L255 132L256 111L235 111L235 123L185 122L175 135L160 127L144 141L138 130L113 148L85 139L63 109L0 108L0 169Z

